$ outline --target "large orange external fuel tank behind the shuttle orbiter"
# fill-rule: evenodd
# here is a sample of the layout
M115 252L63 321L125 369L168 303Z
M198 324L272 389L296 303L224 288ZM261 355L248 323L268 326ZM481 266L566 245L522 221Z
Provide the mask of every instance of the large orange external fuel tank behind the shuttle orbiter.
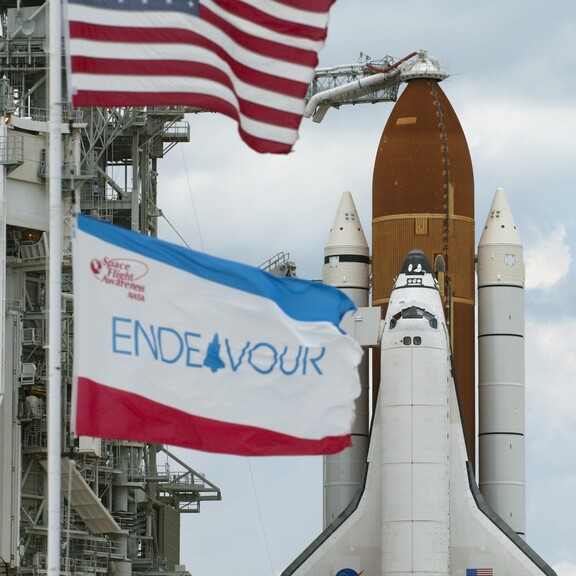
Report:
M411 80L384 127L372 190L372 304L386 311L406 254L435 268L447 312L470 461L475 447L474 178L458 117L434 79Z

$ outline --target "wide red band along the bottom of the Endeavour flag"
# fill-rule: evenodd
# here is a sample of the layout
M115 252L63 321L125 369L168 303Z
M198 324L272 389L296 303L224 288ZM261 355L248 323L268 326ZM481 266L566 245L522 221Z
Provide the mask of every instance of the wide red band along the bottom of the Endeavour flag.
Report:
M143 396L78 378L76 434L169 444L239 456L333 454L349 436L297 438L263 428L188 414Z

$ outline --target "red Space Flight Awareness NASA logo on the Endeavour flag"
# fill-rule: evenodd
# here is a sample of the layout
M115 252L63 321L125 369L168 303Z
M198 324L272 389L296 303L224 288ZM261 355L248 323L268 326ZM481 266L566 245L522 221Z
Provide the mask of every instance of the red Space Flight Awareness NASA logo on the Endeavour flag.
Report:
M140 282L148 274L148 265L131 258L92 258L92 275L104 284L126 291L126 296L138 302L145 301L146 286Z

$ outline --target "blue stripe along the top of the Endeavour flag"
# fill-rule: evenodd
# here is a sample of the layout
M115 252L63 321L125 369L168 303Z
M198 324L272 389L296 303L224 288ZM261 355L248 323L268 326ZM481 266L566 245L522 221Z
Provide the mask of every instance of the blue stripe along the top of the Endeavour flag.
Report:
M163 262L205 280L274 301L288 316L305 322L332 322L354 310L354 303L337 288L324 284L272 276L263 270L201 254L164 240L83 216L78 228L104 242Z

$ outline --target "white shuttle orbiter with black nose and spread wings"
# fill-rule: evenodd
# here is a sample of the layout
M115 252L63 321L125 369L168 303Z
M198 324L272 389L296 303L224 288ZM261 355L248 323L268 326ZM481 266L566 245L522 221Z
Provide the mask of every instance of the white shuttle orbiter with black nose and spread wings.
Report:
M363 489L283 576L555 576L476 486L444 307L421 251L397 276L381 347Z

